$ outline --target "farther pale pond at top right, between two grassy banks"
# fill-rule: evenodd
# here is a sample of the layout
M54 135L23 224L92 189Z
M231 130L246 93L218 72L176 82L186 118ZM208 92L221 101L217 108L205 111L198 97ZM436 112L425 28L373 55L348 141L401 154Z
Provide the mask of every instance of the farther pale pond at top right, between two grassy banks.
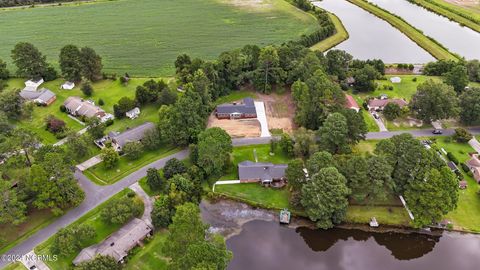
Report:
M467 59L480 59L480 33L468 27L428 11L407 0L369 0L378 6L399 15L409 24L422 30L447 47Z

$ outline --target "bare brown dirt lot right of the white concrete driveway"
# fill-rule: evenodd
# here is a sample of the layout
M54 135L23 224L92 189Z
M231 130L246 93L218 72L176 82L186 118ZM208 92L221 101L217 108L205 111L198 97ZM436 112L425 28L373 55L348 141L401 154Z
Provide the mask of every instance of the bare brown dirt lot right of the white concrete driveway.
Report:
M293 122L295 104L293 104L292 96L289 92L282 95L275 93L257 95L258 100L265 103L268 128L270 130L283 129L283 131L291 133L296 128Z

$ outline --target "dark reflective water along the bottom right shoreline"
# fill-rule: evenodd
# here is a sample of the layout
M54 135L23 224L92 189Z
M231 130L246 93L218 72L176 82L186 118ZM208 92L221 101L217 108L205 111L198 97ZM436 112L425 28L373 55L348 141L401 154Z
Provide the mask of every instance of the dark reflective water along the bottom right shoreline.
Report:
M281 226L275 213L236 202L202 202L201 208L212 231L227 237L234 253L230 270L476 270L480 265L478 235L314 230L302 220Z

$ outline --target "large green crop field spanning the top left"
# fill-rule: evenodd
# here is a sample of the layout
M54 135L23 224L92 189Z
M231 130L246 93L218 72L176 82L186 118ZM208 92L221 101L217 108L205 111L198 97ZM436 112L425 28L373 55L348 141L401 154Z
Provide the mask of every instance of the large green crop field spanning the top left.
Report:
M246 44L281 44L313 32L318 23L284 0L116 0L0 10L0 58L35 44L58 66L66 44L89 46L106 72L166 76L177 55L214 59Z

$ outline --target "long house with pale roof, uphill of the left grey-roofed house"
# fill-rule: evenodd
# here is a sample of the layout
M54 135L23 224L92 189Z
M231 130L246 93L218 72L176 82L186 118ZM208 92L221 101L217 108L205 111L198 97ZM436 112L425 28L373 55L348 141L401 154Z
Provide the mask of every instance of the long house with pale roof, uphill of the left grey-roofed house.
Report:
M100 107L95 106L95 102L83 100L80 97L68 97L63 103L66 111L73 116L84 116L87 118L98 117L102 122L113 119L113 115L106 113Z

